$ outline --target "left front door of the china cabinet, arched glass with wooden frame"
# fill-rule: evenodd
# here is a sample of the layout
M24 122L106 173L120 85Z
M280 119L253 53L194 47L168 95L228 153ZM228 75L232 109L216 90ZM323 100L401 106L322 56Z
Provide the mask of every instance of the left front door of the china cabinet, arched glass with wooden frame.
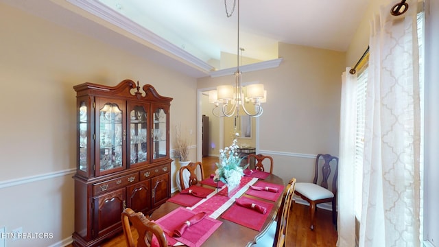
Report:
M96 150L98 152L96 162L99 165L95 168L95 173L103 175L124 169L123 142L126 139L126 130L123 128L123 102L117 103L112 100L112 102L106 102L98 106L99 119L97 119L97 126L99 128L96 133L96 142L99 145L97 145Z

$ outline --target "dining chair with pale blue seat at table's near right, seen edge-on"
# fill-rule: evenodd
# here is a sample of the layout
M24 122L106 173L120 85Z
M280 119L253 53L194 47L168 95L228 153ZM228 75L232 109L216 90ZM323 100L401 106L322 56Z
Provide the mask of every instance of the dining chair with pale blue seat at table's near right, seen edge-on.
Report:
M288 231L288 219L289 213L293 207L294 189L296 187L296 178L289 180L287 187L283 193L281 206L279 207L276 215L276 221L268 227L265 233L262 233L262 237L256 240L256 244L253 247L284 247L287 238Z

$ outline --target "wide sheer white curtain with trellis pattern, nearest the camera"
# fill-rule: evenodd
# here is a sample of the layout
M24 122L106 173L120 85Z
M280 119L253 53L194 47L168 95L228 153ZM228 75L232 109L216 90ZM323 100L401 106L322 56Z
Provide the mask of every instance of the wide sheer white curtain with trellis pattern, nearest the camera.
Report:
M371 24L359 246L420 246L420 90L416 1Z

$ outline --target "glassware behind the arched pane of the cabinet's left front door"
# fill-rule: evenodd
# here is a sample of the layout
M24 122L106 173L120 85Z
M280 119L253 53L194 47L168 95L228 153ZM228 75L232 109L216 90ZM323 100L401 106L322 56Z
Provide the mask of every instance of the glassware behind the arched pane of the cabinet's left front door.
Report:
M122 167L122 111L107 103L99 111L100 171Z

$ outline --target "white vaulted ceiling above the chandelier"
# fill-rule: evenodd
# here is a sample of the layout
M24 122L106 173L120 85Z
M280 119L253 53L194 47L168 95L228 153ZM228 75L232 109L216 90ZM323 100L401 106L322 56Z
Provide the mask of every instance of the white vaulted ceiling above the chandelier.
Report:
M238 0L235 8L235 0L0 1L106 42L112 36L119 46L195 77L236 66ZM239 1L246 64L278 58L279 42L346 51L369 0Z

